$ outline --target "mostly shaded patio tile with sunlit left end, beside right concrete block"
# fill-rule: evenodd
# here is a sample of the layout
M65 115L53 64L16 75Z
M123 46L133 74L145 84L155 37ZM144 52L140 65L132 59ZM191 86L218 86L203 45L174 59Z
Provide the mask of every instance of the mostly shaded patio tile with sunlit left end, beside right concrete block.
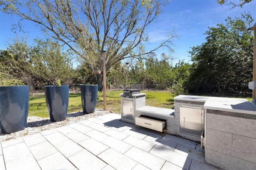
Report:
M189 158L198 160L200 162L204 163L204 152L200 152L198 150L186 147L186 146L182 146L180 144L177 145L177 147L174 149L174 152L177 152L179 154L182 154L184 156L187 156Z

